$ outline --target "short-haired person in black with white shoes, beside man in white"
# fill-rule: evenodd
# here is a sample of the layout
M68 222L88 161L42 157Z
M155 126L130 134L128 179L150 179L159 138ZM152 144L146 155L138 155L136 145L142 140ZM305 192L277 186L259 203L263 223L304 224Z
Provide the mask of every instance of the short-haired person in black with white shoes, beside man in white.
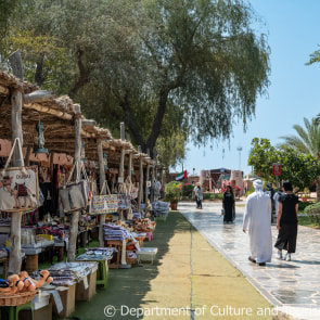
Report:
M278 248L278 258L282 259L282 249L286 249L284 259L291 261L291 254L295 253L297 236L298 197L292 193L290 181L283 182L285 194L279 196L277 229L279 230L274 247Z

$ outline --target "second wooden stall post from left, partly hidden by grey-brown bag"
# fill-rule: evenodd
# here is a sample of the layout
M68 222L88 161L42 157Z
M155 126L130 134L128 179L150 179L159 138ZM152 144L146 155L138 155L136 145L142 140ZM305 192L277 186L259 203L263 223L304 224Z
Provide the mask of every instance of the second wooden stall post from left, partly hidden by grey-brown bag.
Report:
M79 163L81 161L80 153L81 153L81 111L80 105L75 104L75 163L76 172L75 175L78 176L79 174ZM75 212L71 214L71 236L69 236L69 245L67 252L67 260L74 261L76 259L76 248L77 248L77 238L78 238L78 225L79 225L79 212Z

